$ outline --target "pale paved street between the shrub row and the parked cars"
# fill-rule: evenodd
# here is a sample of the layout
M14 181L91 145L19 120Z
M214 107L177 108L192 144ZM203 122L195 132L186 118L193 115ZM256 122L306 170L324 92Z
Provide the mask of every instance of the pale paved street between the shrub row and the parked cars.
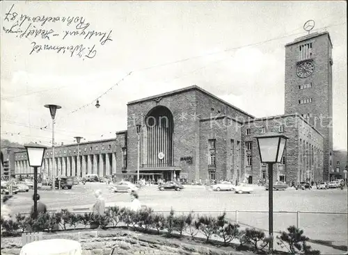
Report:
M127 206L129 193L111 193L105 183L86 183L73 186L72 190L39 190L41 201L49 209L90 208L95 197L93 191L101 189L107 206L116 204ZM238 210L239 223L244 227L252 226L268 229L268 213L240 212L267 211L268 192L262 187L254 186L252 194L235 194L234 192L214 192L201 186L187 186L181 192L159 191L157 187L145 187L139 191L142 204L155 211L191 210L198 213L217 215L214 211ZM15 212L26 213L32 205L33 190L15 195ZM200 211L200 212L199 212ZM274 211L321 211L347 212L347 190L294 190L274 192ZM181 212L180 212L181 213ZM235 212L228 212L228 217L235 220ZM296 225L296 213L274 213L274 231L285 230L290 224ZM300 213L299 226L312 240L332 241L335 245L347 245L347 215Z

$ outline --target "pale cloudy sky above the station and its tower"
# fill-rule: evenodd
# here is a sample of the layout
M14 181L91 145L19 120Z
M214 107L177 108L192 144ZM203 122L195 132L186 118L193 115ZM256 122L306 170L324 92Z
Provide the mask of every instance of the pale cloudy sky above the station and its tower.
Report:
M347 149L345 1L0 5L3 139L50 145L45 104L62 106L58 144L115 138L127 129L127 102L190 85L255 117L282 115L285 44L313 19L311 33L329 31L333 42L333 146Z

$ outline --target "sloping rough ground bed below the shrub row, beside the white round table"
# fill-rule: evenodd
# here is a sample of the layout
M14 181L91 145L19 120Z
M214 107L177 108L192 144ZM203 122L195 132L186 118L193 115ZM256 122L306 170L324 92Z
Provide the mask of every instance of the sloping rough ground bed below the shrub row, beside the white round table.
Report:
M70 239L81 244L83 255L109 255L112 247L117 245L114 254L251 254L241 252L236 247L216 247L205 244L199 238L196 241L188 237L166 238L149 233L129 231L121 228L108 230L72 230L57 233L43 233L43 239ZM1 238L1 254L19 254L22 248L21 237Z

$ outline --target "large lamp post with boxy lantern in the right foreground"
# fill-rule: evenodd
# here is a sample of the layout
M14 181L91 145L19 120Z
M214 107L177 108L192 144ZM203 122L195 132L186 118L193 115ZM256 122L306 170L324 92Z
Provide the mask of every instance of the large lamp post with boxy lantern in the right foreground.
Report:
M269 252L273 252L273 164L280 163L287 137L279 133L265 133L257 136L260 159L267 163L269 174Z

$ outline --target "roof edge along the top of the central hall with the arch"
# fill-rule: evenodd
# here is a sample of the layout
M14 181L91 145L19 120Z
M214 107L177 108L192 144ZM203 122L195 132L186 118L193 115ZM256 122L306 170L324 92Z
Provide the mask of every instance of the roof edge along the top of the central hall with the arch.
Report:
M129 101L127 103L127 106L129 106L131 104L141 103L143 101L149 101L149 100L152 100L152 99L156 99L157 97L169 97L169 96L171 96L173 94L180 94L180 93L183 93L183 92L187 92L189 90L198 90L200 92L203 92L203 94L206 94L207 96L212 97L212 98L220 101L221 103L226 104L227 106L230 106L230 107L234 108L235 110L238 110L241 113L244 113L248 117L255 118L253 115L250 115L250 114L246 113L244 110L241 110L241 109L239 109L239 108L237 108L235 106L232 106L232 104L228 103L227 101L224 101L223 99L221 99L219 97L216 97L214 94L212 94L210 92L207 92L207 90L203 90L203 88L200 88L197 85L191 85L191 86L186 87L186 88L180 88L178 90L173 90L173 91L165 92L165 93L162 93L162 94L156 94L155 96L145 97L143 99L137 99L137 100L134 100L134 101Z

